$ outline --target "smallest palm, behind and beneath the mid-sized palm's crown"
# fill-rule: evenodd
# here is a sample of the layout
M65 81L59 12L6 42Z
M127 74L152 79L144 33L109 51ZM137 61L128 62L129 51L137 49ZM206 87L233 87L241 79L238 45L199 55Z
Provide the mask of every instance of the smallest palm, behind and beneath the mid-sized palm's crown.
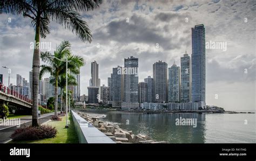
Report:
M50 83L52 83L53 86L55 86L55 79L51 79ZM70 86L76 86L76 78L73 75L68 75L68 85ZM62 113L62 102L63 102L63 89L66 87L66 76L65 74L62 74L58 77L58 87L60 88L60 111Z

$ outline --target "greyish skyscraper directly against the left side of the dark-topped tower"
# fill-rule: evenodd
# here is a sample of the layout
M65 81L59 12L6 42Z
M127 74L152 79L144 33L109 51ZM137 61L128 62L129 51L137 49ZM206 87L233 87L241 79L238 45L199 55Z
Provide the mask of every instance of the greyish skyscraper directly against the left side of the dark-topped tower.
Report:
M121 107L124 100L124 74L123 67L113 68L112 73L112 107Z

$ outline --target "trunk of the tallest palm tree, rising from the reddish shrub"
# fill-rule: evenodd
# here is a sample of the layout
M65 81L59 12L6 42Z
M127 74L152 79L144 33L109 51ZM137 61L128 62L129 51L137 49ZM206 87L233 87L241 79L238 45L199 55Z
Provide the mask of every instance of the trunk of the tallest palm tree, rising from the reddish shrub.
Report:
M40 20L37 20L36 36L32 63L32 127L38 127L38 90L39 90L39 69L40 69ZM38 44L37 44L38 43Z

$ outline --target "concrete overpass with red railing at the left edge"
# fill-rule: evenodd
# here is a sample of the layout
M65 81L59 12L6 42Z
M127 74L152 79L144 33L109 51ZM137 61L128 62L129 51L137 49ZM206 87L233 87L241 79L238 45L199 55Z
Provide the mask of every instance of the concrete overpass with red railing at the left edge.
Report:
M0 102L9 102L10 105L17 107L32 107L32 100L11 90L3 85L0 85Z

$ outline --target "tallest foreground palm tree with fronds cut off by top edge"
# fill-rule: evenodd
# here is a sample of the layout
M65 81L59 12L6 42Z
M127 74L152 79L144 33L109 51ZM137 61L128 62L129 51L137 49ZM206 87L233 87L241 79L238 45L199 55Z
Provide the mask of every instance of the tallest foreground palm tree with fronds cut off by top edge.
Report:
M83 41L91 43L91 30L77 11L89 11L97 8L102 0L2 0L0 14L20 15L31 18L35 30L35 48L32 62L32 126L38 126L38 84L40 68L40 37L50 33L50 22L64 26Z

